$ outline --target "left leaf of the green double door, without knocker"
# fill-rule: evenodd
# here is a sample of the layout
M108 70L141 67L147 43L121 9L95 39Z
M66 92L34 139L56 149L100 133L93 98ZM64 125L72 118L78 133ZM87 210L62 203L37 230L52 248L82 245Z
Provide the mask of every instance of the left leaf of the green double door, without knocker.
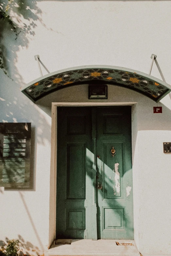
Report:
M58 108L58 238L92 238L91 127L91 108Z

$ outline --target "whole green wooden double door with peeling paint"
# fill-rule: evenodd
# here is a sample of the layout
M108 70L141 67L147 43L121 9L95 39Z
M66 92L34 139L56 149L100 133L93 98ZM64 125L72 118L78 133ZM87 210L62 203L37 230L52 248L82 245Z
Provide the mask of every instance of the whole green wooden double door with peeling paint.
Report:
M131 107L58 108L57 238L133 239L131 162Z

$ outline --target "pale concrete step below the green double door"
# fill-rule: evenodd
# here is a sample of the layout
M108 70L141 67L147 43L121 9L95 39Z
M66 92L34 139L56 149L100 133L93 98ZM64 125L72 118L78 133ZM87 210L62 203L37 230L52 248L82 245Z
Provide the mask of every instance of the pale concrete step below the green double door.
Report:
M140 256L134 240L72 239L63 241L66 244L58 242L60 244L54 242L48 250L49 256ZM117 245L116 242L132 245Z

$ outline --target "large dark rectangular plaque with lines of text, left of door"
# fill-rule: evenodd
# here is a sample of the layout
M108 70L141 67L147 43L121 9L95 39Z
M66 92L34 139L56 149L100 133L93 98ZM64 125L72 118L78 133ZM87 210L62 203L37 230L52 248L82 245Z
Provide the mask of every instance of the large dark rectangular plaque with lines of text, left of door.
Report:
M0 123L0 187L30 187L31 123Z

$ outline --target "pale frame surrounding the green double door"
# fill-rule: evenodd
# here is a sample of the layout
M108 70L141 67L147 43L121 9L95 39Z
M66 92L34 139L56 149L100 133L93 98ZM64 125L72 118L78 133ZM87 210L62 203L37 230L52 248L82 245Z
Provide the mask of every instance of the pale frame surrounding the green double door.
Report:
M139 244L138 230L138 174L134 167L134 152L138 133L138 111L137 102L52 102L52 124L51 124L51 166L50 166L50 198L49 198L49 245L56 238L56 196L57 196L57 108L58 107L116 107L132 106L132 179L133 179L133 215L134 215L134 241ZM135 156L138 157L137 154Z

